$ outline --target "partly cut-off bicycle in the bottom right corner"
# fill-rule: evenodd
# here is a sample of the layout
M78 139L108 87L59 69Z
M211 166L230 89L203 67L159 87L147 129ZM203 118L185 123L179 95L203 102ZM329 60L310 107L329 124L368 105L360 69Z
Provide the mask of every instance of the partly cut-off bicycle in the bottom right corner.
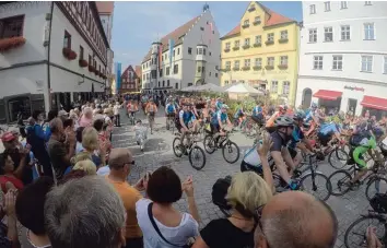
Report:
M344 244L347 248L357 248L357 247L366 247L367 246L367 227L368 226L378 226L382 224L383 228L377 228L376 236L380 240L383 247L387 244L387 215L386 215L386 206L380 202L372 199L370 201L373 210L368 210L367 214L361 214L356 221L354 221L345 231L344 235ZM375 225L375 222L377 224ZM371 224L371 222L373 222ZM384 231L383 231L384 229ZM351 240L351 238L355 240Z

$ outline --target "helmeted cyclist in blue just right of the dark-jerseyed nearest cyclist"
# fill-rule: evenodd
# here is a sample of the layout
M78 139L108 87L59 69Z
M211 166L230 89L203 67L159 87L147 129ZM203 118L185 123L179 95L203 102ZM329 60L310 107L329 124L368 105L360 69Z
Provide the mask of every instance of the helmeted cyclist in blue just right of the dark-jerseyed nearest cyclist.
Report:
M304 125L304 118L305 118L305 113L303 110L297 110L293 116L293 120L295 125L291 137L291 141L288 145L289 153L293 158L294 166L296 167L300 165L303 158L301 153L297 152L296 149L300 149L305 154L310 154L314 151L312 144L309 143L309 140L305 138L301 129Z

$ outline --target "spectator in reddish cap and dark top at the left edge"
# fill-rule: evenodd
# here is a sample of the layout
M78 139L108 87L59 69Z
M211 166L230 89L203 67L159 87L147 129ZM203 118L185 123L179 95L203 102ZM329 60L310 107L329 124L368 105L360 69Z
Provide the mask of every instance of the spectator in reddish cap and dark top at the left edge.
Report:
M33 181L33 170L28 166L31 160L30 156L24 154L25 149L19 142L17 135L12 132L4 132L1 137L1 141L4 145L4 161L8 156L11 157L14 166L14 172L17 172L16 178L23 181L23 185L28 185ZM30 149L28 149L30 150ZM20 169L19 167L22 166Z

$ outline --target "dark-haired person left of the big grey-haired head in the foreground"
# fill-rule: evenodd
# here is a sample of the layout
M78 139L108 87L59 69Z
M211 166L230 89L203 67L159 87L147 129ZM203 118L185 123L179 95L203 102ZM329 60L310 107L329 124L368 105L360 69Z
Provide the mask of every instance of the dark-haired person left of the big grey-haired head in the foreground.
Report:
M46 194L52 187L51 177L39 177L17 194L15 210L17 221L24 226L20 240L23 248L50 247L45 228L44 205Z

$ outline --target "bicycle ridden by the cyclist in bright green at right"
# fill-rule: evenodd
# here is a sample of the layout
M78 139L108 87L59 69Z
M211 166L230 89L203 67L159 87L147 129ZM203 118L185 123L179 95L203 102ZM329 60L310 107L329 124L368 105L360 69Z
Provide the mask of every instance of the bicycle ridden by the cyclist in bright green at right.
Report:
M332 196L343 196L348 191L350 190L357 190L360 188L361 185L366 184L366 189L365 189L365 197L367 198L367 200L371 200L373 196L375 196L376 193L379 193L380 191L380 182L383 182L384 185L387 185L387 179L385 178L386 175L386 158L385 161L380 161L377 160L375 161L375 164L372 168L368 168L367 170L371 172L368 175L366 175L365 177L363 177L359 182L354 184L354 185L350 185L350 181L352 180L353 176L356 174L356 172L360 172L361 169L357 167L357 165L352 165L349 169L339 169L335 173L332 173L329 176L329 181L331 184L331 194ZM340 175L340 176L338 176ZM332 180L333 176L338 176L338 180L335 181ZM335 181L335 184L333 184ZM371 187L375 184L374 187ZM338 187L339 191L333 191L333 186ZM376 193L371 193L370 191L375 188Z

